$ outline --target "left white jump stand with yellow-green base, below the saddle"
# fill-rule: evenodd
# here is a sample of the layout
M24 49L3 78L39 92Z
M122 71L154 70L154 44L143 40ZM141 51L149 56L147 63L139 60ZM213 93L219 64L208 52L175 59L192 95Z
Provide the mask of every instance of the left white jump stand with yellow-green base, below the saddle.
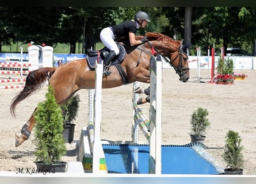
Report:
M89 89L88 125L81 132L78 158L85 173L100 174L108 173L100 139L103 64L96 63L95 71L95 89Z

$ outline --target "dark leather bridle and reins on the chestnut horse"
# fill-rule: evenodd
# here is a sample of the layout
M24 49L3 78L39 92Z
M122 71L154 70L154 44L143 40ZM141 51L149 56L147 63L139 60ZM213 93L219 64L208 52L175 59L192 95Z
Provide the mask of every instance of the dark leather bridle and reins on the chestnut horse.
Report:
M156 49L149 41L147 41L147 44L150 45L150 47L154 48L154 50L156 51L156 53L158 53L159 55L161 55L163 57L163 59L170 64L171 67L174 68L174 70L176 71L176 74L179 75L179 77L183 76L186 74L185 71L188 71L189 68L185 68L182 66L182 62L181 62L181 58L182 58L182 53L185 54L186 56L188 56L186 54L186 52L182 51L182 45L179 47L178 50L178 55L173 59L173 60L168 60L166 56L163 56L161 52L159 52L158 49ZM179 65L178 67L174 66L173 62L177 59L177 57L179 56Z

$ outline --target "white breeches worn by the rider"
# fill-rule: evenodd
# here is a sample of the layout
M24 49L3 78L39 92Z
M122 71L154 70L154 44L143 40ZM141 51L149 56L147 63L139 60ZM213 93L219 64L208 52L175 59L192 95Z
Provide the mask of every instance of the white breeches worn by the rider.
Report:
M115 37L112 32L112 30L108 28L104 28L101 30L100 38L102 43L110 49L110 51L114 51L116 55L119 54L119 48L116 45L116 42L114 41Z

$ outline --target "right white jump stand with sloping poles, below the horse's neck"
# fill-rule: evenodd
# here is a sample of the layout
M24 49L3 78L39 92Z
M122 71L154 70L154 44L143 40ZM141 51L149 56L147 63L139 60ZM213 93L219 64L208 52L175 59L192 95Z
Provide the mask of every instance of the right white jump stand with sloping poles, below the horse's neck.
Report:
M162 60L161 56L152 56L150 68L150 111L147 118L140 106L136 104L138 95L135 89L139 87L138 83L133 83L133 120L132 138L133 143L138 144L138 127L146 137L150 145L149 174L161 174L161 140L162 140ZM149 131L149 132L148 132ZM136 158L136 151L135 151ZM136 170L137 163L133 163L133 170Z

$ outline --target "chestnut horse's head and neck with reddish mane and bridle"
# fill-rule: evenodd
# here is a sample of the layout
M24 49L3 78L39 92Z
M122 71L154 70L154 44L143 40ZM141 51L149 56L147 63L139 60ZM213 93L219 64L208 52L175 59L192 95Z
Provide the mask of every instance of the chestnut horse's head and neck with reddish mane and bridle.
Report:
M146 37L151 41L151 46L154 46L156 52L163 56L163 59L174 68L179 75L179 81L188 82L189 80L189 63L188 55L184 52L188 47L181 44L181 41L176 41L161 33L147 32ZM168 59L167 59L167 58Z

